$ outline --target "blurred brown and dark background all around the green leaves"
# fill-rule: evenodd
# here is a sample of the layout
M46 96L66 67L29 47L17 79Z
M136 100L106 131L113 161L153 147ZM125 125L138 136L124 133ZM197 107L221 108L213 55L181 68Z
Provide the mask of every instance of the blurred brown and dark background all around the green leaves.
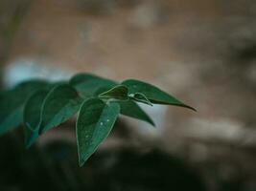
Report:
M121 117L84 167L75 121L25 149L0 138L0 190L255 191L255 0L0 0L1 89L87 72L155 84L198 109Z

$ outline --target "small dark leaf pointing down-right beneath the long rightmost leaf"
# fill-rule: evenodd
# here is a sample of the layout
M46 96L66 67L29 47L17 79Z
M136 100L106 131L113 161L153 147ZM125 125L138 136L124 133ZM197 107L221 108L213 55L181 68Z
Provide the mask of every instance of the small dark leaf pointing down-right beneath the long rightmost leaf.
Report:
M147 113L145 113L143 109L141 109L141 107L134 101L119 101L118 103L120 105L120 113L122 115L144 120L146 122L149 122L152 126L155 126L151 117L149 117Z

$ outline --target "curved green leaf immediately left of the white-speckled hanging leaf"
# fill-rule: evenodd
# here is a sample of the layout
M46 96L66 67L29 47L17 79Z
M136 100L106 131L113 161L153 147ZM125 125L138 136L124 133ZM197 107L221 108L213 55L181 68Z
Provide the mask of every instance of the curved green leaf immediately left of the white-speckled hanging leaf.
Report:
M73 117L79 111L81 102L81 97L70 85L61 84L55 87L43 102L39 133L44 133Z

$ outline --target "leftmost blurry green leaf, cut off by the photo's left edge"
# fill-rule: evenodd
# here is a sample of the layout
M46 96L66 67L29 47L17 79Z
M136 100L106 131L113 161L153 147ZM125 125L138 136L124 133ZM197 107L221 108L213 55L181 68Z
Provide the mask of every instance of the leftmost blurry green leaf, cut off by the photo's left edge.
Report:
M22 123L24 104L36 90L46 87L42 80L22 82L6 92L0 99L0 135L11 131Z

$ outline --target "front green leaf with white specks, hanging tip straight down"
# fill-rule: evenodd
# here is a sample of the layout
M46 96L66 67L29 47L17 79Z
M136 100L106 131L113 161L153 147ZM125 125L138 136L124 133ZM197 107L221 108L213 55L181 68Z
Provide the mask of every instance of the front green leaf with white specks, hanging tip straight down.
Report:
M109 135L120 106L116 102L105 102L90 98L83 102L77 121L77 141L80 166L97 150Z

